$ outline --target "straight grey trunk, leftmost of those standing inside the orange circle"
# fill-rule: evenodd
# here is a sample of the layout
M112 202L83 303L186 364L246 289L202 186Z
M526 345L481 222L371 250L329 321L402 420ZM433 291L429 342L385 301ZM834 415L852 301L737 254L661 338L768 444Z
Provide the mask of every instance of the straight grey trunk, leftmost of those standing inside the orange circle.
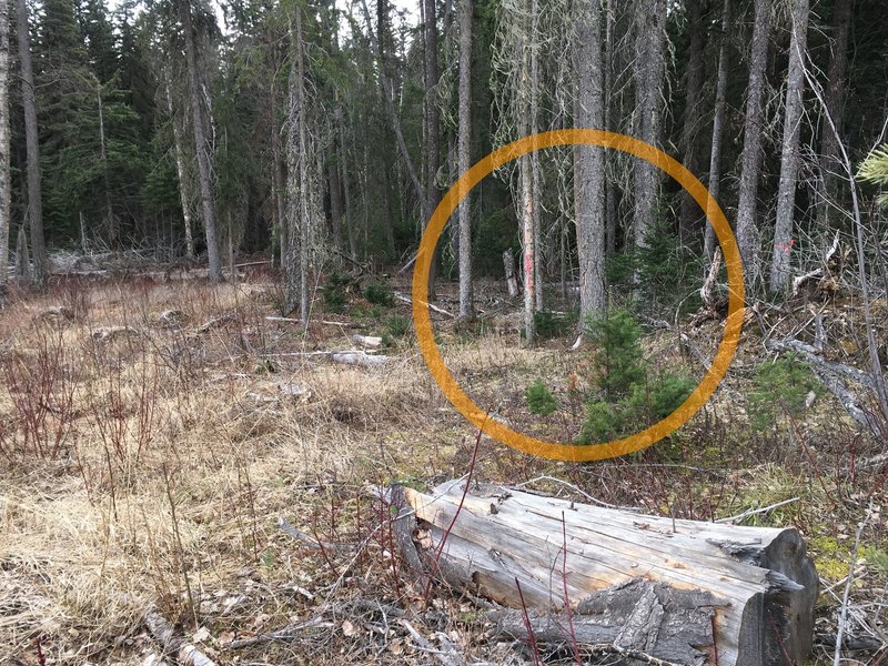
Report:
M460 21L460 129L457 137L457 178L468 171L472 149L472 12L473 0L458 0ZM465 193L460 192L463 196ZM472 205L465 195L460 203L460 316L475 314L472 303Z

